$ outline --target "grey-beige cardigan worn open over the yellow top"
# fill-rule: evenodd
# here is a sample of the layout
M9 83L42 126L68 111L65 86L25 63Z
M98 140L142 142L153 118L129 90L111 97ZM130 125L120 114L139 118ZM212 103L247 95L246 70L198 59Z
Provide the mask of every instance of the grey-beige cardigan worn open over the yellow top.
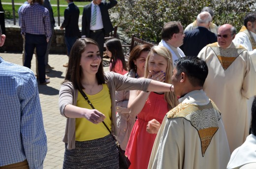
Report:
M151 79L135 79L122 76L114 72L106 72L105 82L109 88L111 98L111 112L112 112L112 134L117 135L117 118L115 108L115 91L116 90L142 90L147 91ZM78 90L74 89L71 82L62 84L59 93L59 108L61 114L64 115L65 106L72 104L76 106ZM92 103L93 104L93 103ZM66 128L63 141L67 143L67 149L75 148L75 118L66 119Z

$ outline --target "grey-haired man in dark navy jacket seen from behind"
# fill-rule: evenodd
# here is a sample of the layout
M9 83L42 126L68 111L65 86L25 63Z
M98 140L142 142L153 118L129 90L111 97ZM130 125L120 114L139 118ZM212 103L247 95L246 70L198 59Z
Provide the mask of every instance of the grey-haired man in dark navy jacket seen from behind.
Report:
M185 56L197 56L201 49L217 42L217 35L209 30L212 17L209 12L197 15L197 28L186 31L183 45L180 47Z

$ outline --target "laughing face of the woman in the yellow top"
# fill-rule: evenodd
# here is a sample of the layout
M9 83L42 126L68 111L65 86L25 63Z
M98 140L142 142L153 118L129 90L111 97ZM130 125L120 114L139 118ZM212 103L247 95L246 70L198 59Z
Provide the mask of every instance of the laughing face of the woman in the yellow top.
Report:
M101 62L99 49L94 44L88 44L85 51L81 54L80 65L83 75L96 74Z

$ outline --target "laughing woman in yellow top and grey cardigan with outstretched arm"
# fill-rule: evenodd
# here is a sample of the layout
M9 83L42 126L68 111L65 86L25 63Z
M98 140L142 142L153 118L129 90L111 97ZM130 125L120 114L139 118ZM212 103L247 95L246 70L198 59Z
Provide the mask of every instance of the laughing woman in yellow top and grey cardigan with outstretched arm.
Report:
M76 40L59 96L61 114L67 117L63 139L64 169L119 168L116 143L101 122L117 135L116 109L112 106L115 105L115 91L134 89L174 90L171 84L151 79L104 73L97 43L89 38Z

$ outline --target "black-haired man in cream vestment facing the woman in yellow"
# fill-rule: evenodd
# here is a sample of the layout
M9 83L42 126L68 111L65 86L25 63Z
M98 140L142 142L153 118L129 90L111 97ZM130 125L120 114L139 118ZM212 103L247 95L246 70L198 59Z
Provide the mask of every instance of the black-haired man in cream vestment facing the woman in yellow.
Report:
M175 65L172 83L180 104L163 119L148 169L225 169L230 152L221 113L202 90L207 64L187 56Z

